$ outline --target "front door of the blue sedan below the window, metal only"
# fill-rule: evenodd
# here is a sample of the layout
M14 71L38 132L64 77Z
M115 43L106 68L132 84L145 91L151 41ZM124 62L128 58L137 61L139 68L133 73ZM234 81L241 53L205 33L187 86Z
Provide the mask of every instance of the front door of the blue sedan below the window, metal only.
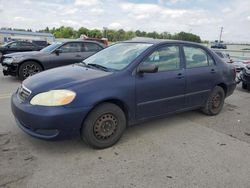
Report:
M183 70L144 74L136 78L137 118L147 118L183 108L185 79Z

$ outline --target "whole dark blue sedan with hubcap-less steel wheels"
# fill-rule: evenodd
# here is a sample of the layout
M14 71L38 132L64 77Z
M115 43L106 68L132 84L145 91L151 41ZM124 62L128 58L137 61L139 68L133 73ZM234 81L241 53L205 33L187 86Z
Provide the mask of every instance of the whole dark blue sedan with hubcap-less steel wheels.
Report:
M11 107L31 136L81 136L106 148L127 126L151 118L193 109L217 115L236 87L235 76L230 64L197 43L132 40L29 77Z

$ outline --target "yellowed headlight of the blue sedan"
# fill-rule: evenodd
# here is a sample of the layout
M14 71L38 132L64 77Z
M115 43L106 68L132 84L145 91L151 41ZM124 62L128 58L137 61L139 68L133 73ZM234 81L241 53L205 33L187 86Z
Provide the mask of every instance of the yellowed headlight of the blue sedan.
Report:
M40 106L62 106L71 103L76 93L70 90L51 90L34 96L30 104Z

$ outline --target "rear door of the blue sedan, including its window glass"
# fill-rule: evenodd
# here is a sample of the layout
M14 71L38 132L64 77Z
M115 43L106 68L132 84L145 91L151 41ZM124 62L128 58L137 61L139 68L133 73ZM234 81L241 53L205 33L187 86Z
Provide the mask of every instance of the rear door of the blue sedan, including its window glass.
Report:
M183 50L187 77L185 107L201 106L214 87L217 78L216 65L202 48L184 46Z

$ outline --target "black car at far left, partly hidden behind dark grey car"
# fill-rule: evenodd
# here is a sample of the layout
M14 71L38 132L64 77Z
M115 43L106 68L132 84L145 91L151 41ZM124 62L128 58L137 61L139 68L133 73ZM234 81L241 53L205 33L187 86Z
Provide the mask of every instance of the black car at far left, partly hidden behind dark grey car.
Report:
M39 46L27 41L13 41L0 46L0 59L4 54L14 52L39 51L44 46Z

